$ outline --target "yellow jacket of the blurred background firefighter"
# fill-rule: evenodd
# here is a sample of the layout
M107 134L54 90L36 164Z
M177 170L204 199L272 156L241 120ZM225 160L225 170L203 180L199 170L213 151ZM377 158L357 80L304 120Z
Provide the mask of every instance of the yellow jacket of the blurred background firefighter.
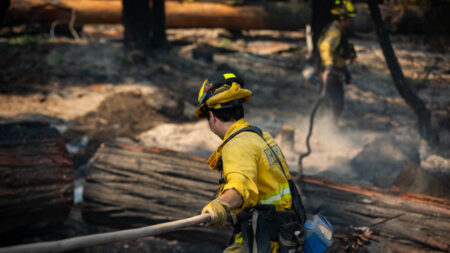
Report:
M319 52L322 66L325 68L345 68L343 31L339 29L338 21L333 21L319 38Z

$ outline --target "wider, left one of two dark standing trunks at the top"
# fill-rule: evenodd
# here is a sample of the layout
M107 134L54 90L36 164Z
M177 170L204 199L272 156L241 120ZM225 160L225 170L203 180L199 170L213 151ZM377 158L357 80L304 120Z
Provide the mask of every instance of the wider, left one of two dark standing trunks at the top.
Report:
M122 0L124 42L127 49L150 49L150 7L148 0Z

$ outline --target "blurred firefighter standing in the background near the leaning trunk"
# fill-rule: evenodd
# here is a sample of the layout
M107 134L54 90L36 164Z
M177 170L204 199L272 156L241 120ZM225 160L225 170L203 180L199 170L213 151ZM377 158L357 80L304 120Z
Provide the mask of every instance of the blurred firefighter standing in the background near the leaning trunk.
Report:
M353 61L356 53L348 43L347 28L356 15L350 1L336 0L331 9L335 20L325 27L318 41L322 72L322 92L325 92L328 106L337 121L344 108L343 81L351 82L351 75L346 67L346 60Z

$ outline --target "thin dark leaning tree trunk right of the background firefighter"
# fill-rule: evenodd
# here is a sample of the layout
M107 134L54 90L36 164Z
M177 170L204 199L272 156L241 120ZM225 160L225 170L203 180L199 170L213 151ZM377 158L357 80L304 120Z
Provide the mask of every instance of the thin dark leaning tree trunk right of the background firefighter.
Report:
M403 75L402 68L397 61L394 49L392 48L389 34L387 33L383 21L381 19L380 9L376 0L367 0L372 22L375 26L378 40L383 50L384 58L391 72L395 88L406 101L406 103L414 110L419 125L420 136L426 140L431 140L431 116L430 111L426 108L424 102L411 90Z

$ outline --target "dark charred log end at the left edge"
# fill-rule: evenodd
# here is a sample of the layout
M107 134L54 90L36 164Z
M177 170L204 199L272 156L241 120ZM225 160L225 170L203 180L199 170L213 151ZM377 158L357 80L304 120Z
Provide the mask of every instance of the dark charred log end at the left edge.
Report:
M62 224L73 203L73 167L58 131L39 122L0 125L0 241Z

